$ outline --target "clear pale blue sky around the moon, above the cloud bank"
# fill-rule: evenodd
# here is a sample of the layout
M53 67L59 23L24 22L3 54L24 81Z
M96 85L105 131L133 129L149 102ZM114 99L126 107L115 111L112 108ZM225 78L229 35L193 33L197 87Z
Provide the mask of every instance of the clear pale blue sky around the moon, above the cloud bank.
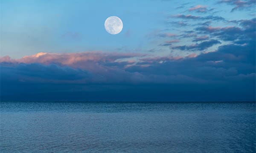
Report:
M188 11L197 5L213 9L211 12ZM179 8L182 7L182 8ZM158 46L171 38L149 38L155 33L180 34L195 28L191 20L188 26L177 27L166 22L183 21L170 17L177 14L195 16L221 16L226 20L250 19L252 11L230 12L234 6L217 1L180 0L2 0L1 1L1 55L21 58L38 52L120 51L147 52L161 49L159 55L169 53L168 47ZM253 10L253 9L252 9ZM119 35L109 35L104 21L109 16L118 16L124 27ZM207 20L205 20L207 21ZM212 21L212 26L234 26L225 21ZM186 44L181 40L180 44Z

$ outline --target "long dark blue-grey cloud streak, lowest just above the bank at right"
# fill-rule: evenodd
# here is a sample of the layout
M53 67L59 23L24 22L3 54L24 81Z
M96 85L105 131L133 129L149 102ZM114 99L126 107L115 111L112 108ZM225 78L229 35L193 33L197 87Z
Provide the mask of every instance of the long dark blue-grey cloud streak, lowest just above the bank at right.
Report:
M213 45L216 45L216 44L220 44L221 42L218 41L218 40L209 40L209 41L204 41L204 42L201 42L201 43L195 43L195 44L192 44L192 45L183 45L183 46L173 46L172 49L180 49L180 50L204 50L204 49L207 49Z

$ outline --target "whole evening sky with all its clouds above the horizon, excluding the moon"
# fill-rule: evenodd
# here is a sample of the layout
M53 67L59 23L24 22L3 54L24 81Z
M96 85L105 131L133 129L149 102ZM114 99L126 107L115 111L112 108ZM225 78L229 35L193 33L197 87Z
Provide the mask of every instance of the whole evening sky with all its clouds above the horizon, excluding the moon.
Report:
M1 0L1 100L255 101L256 0ZM111 35L105 20L123 29Z

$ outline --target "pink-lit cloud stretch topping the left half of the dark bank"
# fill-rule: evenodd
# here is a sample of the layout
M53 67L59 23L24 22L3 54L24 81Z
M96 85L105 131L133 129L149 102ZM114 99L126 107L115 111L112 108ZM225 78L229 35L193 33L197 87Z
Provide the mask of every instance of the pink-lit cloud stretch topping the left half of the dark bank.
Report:
M11 63L40 63L40 64L57 64L60 66L70 66L72 68L86 69L91 72L104 72L109 66L106 64L117 64L119 61L127 61L132 64L131 58L143 57L143 54L137 53L116 53L116 52L80 52L80 53L46 53L40 52L35 55L24 56L20 59L11 59L9 56L1 57L0 62Z

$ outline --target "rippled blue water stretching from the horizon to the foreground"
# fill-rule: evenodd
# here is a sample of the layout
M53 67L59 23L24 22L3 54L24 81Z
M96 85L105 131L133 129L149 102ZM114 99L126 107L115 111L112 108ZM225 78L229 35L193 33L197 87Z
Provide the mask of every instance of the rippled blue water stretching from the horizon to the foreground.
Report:
M0 152L256 152L256 104L1 102Z

